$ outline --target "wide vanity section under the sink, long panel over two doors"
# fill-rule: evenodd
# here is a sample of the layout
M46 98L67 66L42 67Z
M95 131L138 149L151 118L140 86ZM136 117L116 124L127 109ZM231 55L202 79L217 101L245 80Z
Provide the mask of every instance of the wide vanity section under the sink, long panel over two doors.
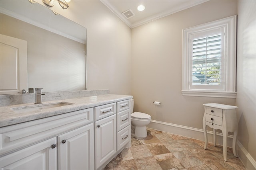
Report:
M94 169L93 108L0 131L2 169Z

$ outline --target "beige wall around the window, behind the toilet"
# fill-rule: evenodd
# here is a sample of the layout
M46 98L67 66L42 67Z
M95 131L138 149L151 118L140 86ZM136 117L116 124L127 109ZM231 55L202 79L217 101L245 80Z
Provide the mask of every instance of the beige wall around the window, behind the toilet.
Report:
M134 111L202 129L204 103L235 99L182 96L182 29L236 15L236 1L208 1L132 29ZM153 101L162 102L155 106Z

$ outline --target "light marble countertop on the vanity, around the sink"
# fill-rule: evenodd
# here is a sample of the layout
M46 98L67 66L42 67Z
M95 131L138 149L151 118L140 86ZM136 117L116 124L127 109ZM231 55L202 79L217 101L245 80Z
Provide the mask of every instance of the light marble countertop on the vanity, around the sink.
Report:
M100 106L104 104L118 102L121 100L128 100L130 98L132 98L132 96L105 94L105 95L90 96L90 97L83 97L83 98L55 100L50 102L42 101L42 104L30 103L30 104L3 106L3 107L0 107L0 127L14 125L14 124L23 123L26 121L32 121L36 119L42 119L45 117L60 115L63 113L69 113L71 111L77 111L77 110L86 109L90 107ZM13 108L15 107L28 108L30 106L41 106L41 105L44 106L44 105L56 104L60 102L69 103L69 105L53 107L53 108L45 108L38 111L26 111L21 113L19 113L20 111L13 110Z

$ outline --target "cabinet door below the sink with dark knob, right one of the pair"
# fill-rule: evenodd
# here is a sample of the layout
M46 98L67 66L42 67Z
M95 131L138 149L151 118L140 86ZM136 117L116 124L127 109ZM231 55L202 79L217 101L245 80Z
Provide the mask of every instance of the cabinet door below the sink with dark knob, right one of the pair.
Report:
M94 169L93 123L64 133L58 139L58 169Z

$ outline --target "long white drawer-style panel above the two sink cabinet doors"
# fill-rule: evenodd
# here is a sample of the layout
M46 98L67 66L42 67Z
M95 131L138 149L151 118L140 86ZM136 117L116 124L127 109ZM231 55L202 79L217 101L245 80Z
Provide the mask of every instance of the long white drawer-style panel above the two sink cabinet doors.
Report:
M93 108L0 128L1 155L93 122Z

